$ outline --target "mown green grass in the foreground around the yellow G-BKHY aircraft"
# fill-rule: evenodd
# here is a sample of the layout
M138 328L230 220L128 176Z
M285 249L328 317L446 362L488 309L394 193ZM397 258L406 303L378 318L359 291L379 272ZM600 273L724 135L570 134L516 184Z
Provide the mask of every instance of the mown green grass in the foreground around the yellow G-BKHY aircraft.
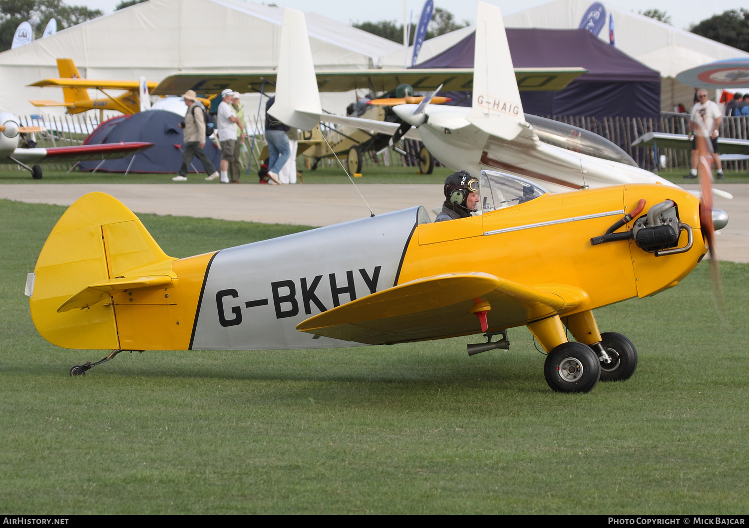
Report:
M38 336L25 274L63 207L0 201L0 512L700 513L749 510L749 265L596 312L631 380L551 392L527 330L323 351L123 353ZM298 226L141 215L170 255Z

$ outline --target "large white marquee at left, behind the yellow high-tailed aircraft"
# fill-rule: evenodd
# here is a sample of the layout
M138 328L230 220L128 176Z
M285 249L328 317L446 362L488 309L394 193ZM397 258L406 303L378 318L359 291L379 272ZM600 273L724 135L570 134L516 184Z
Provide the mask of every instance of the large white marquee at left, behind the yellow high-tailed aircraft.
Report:
M0 53L0 112L39 113L29 99L62 100L59 88L26 87L58 77L57 58L72 58L87 79L160 81L178 70L273 69L282 15L280 7L243 0L150 0L100 16ZM378 67L383 55L403 49L315 13L306 13L306 21L321 70ZM327 96L327 106L341 106L342 94ZM44 109L55 110L64 112Z

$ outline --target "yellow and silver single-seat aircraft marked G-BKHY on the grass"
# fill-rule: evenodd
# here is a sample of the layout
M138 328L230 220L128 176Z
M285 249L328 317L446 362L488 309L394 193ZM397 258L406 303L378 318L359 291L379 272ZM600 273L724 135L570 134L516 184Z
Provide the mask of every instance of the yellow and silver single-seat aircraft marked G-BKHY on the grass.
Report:
M285 9L284 17L282 53L294 43L291 28L304 28L303 13ZM312 71L293 56L282 58ZM276 102L288 103L284 71ZM700 165L702 203L659 184L551 194L482 170L479 216L431 223L424 207L411 207L189 258L166 255L124 204L92 192L52 229L25 293L44 339L112 350L71 375L121 351L335 348L482 333L485 343L468 345L473 355L508 349L507 330L527 326L548 353L549 386L587 392L637 368L632 342L601 333L592 310L673 288L708 250L717 266L714 231L728 219L712 209L709 170Z

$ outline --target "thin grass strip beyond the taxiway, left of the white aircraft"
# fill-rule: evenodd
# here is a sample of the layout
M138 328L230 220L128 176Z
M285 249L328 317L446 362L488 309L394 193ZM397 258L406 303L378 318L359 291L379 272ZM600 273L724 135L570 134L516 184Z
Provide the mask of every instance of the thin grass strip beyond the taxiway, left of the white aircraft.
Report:
M416 167L365 167L363 177L357 177L356 183L445 183L445 178L452 174L451 169L435 167L431 175L417 174ZM2 183L180 183L173 182L175 175L158 174L133 174L127 176L121 173L108 172L78 172L70 173L64 171L52 171L43 168L41 180L31 178L28 171L0 171L0 184ZM302 177L305 183L349 183L348 177L340 167L323 168L315 171L305 170ZM206 185L219 185L219 180L206 181L205 174L188 174L188 183L205 183ZM258 183L258 175L250 171L249 175L242 175L240 181L244 183ZM749 179L748 179L749 181ZM301 183L297 180L297 183Z

